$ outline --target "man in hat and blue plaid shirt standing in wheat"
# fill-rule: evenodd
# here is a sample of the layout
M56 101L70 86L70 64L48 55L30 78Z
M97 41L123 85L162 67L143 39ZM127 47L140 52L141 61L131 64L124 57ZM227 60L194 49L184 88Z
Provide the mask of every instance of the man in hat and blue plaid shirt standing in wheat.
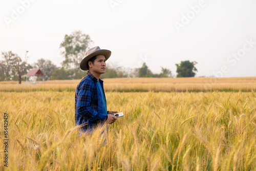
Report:
M75 121L76 125L83 125L81 132L91 133L98 124L112 124L117 119L114 116L117 111L106 111L103 81L99 78L105 73L105 61L110 55L111 51L97 46L89 49L80 63L81 70L89 70L77 85L75 94Z

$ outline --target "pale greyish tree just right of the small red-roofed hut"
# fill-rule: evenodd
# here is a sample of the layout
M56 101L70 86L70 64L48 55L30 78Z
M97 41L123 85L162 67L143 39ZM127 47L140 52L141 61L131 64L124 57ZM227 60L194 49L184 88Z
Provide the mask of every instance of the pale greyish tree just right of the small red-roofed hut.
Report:
M57 69L57 66L52 63L51 60L47 59L38 59L37 62L34 63L34 68L39 68L41 72L44 74L45 80L50 80L52 73Z

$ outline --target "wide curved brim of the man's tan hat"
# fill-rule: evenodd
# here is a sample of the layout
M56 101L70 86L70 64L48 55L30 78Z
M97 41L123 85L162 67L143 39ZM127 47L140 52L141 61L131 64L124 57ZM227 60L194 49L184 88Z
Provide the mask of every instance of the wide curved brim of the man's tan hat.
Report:
M96 55L104 55L105 59L108 60L110 55L111 55L111 51L106 50L106 49L101 49L101 50L98 50L98 51L93 52L92 54L86 56L85 58L82 59L82 61L80 63L80 69L83 70L83 71L89 70L87 68L87 62L88 62L89 59L91 59L92 57L94 57Z

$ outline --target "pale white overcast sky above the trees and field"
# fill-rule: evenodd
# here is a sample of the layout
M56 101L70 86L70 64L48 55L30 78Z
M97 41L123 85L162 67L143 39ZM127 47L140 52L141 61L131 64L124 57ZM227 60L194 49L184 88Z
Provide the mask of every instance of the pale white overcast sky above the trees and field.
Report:
M175 63L190 60L198 62L196 76L256 76L255 7L254 0L0 0L0 51L25 58L28 50L29 63L45 58L60 66L65 34L81 30L91 47L112 51L107 65L135 68L145 60L153 73L176 74Z

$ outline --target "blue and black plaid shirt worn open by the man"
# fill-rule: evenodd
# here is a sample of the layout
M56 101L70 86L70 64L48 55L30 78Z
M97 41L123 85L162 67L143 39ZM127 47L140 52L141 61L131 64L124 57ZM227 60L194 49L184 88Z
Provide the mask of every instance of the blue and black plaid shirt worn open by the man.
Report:
M103 81L99 79L105 100ZM97 78L89 71L87 75L79 82L75 95L75 121L76 125L83 125L81 131L92 131L93 127L108 119L102 111L102 100L98 98ZM100 103L100 104L99 104Z

